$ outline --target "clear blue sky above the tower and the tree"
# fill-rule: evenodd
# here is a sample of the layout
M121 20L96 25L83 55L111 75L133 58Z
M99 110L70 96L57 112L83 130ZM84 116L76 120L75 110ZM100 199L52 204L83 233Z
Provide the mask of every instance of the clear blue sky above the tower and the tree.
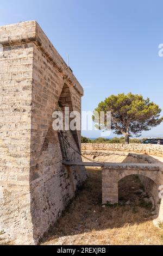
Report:
M148 96L163 108L161 0L0 0L0 7L0 26L36 20L65 60L68 52L84 87L84 111L122 92ZM142 135L163 136L162 130L163 124Z

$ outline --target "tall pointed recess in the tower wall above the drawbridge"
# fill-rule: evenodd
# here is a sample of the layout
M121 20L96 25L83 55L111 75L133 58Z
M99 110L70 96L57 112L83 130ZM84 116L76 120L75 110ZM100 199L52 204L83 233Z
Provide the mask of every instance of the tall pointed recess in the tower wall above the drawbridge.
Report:
M71 99L71 93L70 93L70 88L67 86L67 84L64 84L64 87L62 88L62 92L60 94L59 100L58 100L58 105L57 105L57 110L61 110L64 117L65 117L65 107L69 107L70 113L73 111L73 106L72 106L72 99ZM71 122L71 118L69 121L69 124ZM65 125L65 123L64 123ZM80 150L80 143L78 139L78 133L77 130L70 130L74 141L76 142L77 148Z

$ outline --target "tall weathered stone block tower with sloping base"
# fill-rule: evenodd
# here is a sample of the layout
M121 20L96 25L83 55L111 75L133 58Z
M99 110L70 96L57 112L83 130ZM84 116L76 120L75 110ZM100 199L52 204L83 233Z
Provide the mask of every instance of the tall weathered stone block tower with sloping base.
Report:
M62 166L81 159L52 129L60 105L80 111L83 88L35 21L0 27L0 44L0 239L36 244L86 179ZM80 132L64 134L80 148Z

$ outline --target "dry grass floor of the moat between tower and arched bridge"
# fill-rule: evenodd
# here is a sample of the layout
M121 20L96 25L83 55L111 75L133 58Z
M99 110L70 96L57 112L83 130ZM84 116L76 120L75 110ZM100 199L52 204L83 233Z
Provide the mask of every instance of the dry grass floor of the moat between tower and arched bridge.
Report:
M163 245L163 229L154 227L152 209L140 204L135 193L142 189L139 179L128 176L120 182L122 205L102 208L101 170L88 173L43 245ZM130 205L125 203L128 200Z

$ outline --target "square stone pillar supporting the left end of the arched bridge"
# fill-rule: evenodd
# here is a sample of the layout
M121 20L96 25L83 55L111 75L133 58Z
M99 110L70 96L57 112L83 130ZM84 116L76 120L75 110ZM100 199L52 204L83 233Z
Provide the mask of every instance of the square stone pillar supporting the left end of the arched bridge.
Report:
M102 168L102 204L118 203L118 172Z

